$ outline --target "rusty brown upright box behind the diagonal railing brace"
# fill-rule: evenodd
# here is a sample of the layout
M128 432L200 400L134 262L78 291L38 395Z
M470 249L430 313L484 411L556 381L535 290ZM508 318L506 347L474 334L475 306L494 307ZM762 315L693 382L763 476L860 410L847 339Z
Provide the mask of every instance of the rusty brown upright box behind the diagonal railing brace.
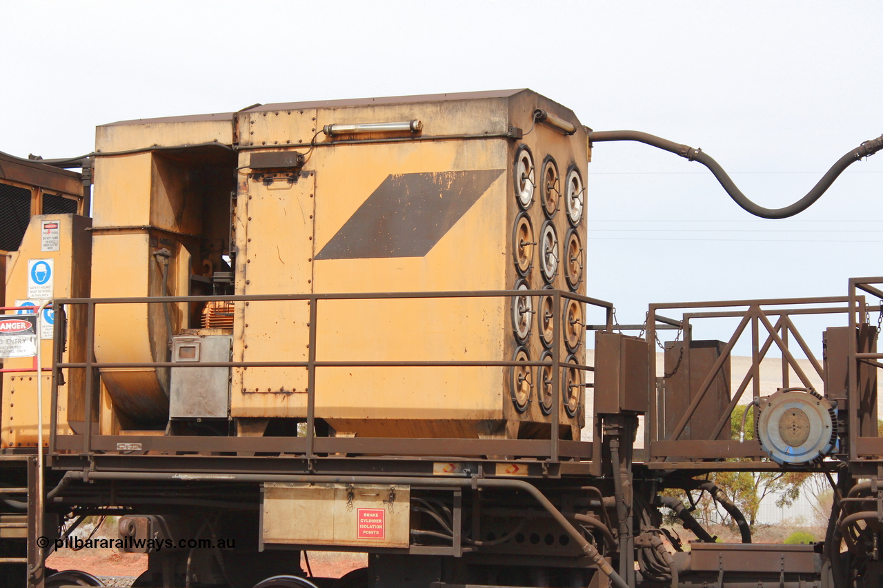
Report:
M675 426L698 395L725 346L726 343L722 341L691 341L689 346L684 342L666 345L667 377L661 415L664 439L671 437ZM729 358L726 358L702 402L698 404L693 418L684 427L679 440L700 441L712 438L714 426L727 410L730 398L729 379L730 363ZM729 439L729 437L730 431L725 426L715 439Z

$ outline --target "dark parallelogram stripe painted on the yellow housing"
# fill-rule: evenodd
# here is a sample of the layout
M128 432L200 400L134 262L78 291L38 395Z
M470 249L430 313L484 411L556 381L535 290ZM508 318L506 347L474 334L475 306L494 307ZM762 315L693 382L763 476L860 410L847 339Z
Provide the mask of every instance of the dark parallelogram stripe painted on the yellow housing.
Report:
M423 257L502 172L390 174L315 259Z

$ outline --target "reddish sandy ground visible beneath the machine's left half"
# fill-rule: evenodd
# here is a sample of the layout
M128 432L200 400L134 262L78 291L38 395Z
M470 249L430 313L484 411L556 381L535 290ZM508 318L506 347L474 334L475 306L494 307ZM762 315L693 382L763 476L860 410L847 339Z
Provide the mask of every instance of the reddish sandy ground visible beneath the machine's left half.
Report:
M367 565L366 554L309 552L310 568L316 577L341 577ZM79 569L93 576L138 577L147 569L147 554L117 554L112 549L61 549L49 555L48 568ZM301 567L306 565L301 560Z

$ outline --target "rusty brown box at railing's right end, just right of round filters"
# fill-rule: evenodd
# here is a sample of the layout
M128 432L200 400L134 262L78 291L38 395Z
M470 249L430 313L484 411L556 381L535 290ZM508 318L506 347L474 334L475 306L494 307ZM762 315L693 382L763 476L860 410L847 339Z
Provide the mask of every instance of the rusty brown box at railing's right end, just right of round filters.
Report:
M647 342L619 333L595 334L595 414L647 411Z

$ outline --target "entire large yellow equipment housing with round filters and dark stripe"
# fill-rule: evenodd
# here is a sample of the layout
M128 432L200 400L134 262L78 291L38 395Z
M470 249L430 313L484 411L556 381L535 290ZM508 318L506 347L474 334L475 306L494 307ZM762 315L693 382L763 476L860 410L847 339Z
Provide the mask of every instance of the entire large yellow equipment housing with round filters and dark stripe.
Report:
M585 128L530 90L131 121L100 127L97 147L94 263L127 279L94 272L94 296L217 291L229 271L238 295L585 293ZM559 321L561 360L585 363L582 306L552 316L550 301L320 299L313 326L306 300L238 302L232 358L306 361L314 328L321 362L537 361ZM213 309L102 309L96 358L164 360L169 336L211 326ZM565 372L555 408L537 367L320 366L315 416L347 436L516 438L547 436L557 410L578 438L582 378ZM132 426L166 418L162 370L102 380ZM304 367L235 367L230 417L241 433L305 418L307 382Z

